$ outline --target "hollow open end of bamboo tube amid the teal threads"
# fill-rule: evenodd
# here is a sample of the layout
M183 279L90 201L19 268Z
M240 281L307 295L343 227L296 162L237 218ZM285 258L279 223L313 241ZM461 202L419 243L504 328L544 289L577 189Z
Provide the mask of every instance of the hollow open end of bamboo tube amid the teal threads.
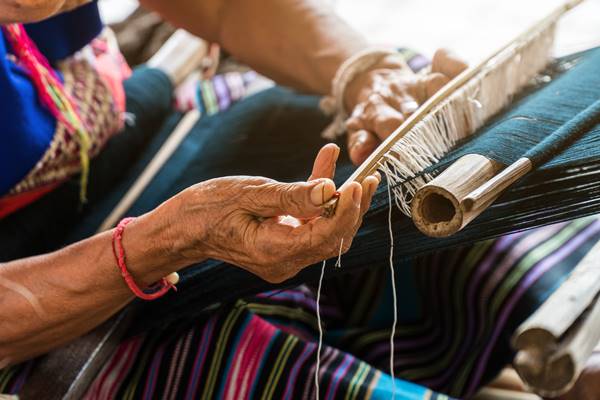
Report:
M465 199L502 168L502 164L479 154L459 158L417 191L411 204L413 222L431 237L447 237L460 231L496 200L494 197L478 208L467 209Z

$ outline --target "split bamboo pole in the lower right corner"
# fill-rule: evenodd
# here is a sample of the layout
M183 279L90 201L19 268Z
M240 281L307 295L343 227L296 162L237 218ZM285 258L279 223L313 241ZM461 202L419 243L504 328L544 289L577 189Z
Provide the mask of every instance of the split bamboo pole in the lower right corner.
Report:
M556 397L577 381L600 343L600 242L516 331L513 362L523 381Z

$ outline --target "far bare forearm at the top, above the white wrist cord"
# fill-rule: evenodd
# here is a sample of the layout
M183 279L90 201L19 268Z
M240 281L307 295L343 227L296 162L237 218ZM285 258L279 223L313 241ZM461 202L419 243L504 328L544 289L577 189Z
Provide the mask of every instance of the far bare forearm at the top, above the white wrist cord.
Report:
M330 91L340 64L366 40L319 0L145 0L282 84Z

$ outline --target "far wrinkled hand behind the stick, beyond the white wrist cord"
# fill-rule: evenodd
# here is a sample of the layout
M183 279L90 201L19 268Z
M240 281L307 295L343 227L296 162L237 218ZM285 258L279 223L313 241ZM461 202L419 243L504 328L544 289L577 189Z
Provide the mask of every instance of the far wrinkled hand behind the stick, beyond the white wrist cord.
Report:
M347 109L353 110L346 123L352 162L365 161L382 140L466 67L448 51L438 50L427 75L415 74L397 58L389 58L358 76L345 98Z

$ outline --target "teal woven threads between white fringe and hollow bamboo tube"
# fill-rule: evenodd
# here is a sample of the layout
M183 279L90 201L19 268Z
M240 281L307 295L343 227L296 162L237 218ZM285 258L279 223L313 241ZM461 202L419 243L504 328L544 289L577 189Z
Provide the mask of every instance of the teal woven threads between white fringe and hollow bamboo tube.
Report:
M584 132L579 132L579 138L563 152L552 146L553 143L545 143L549 151L541 155L549 160L542 169L598 160L600 124L589 126L586 116L581 113L600 99L600 49L558 64L559 69L561 66L570 68L558 75L551 73L554 77L550 83L520 99L510 111L492 120L476 137L450 153L435 168L441 170L457 158L473 153L510 164L561 128L567 132L570 131L565 128Z

